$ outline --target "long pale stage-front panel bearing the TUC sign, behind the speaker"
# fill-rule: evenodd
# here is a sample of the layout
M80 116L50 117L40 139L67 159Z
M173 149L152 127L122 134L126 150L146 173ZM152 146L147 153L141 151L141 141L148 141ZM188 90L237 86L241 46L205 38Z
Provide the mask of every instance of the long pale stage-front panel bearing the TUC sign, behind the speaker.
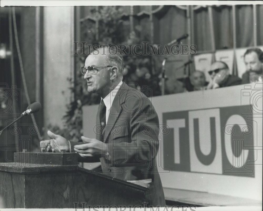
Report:
M164 189L262 200L262 84L151 101L163 129L157 165ZM95 137L97 109L83 107L86 137Z

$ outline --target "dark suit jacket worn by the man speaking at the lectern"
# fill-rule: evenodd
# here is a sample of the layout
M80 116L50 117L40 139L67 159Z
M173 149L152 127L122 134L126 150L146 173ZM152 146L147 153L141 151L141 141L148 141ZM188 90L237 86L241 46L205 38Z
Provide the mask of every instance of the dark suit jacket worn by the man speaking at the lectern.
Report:
M149 94L150 91L149 91ZM151 179L149 205L165 205L157 170L159 119L150 99L141 90L123 83L112 103L104 130L96 120L96 139L107 145L108 157L101 157L101 171L122 180Z

